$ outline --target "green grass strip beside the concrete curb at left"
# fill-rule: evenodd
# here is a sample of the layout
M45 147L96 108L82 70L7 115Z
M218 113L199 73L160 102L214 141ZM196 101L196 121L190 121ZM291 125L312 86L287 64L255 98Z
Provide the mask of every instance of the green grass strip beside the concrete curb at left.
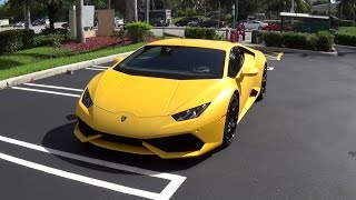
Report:
M17 62L18 64L17 67L12 67L12 68L0 67L0 80L4 80L11 77L22 76L22 74L27 74L36 71L41 71L41 70L46 70L55 67L91 60L100 57L107 57L107 56L122 53L127 51L134 51L142 47L144 44L145 43L135 43L135 44L129 44L125 47L108 48L108 49L102 49L102 50L97 50L97 51L80 53L80 54L73 54L73 56L68 56L68 53L72 54L72 52L66 51L60 48L47 49L48 50L47 52L46 52L46 48L44 49L34 48L34 49L27 50L26 52L34 51L37 56L38 54L43 56L42 59L39 59L39 57L31 57L31 56L26 57L23 56L23 51L16 52L20 54L22 52L23 58L21 60L23 64L19 64L20 62L12 58L13 54L16 53L3 54L3 56L0 56L1 66L3 66L1 62L2 57L8 58L8 60L11 58L12 61ZM52 51L49 51L49 50L52 50ZM31 53L28 53L28 54L31 54ZM19 59L20 57L16 57L16 58ZM10 63L10 61L8 61L8 63Z

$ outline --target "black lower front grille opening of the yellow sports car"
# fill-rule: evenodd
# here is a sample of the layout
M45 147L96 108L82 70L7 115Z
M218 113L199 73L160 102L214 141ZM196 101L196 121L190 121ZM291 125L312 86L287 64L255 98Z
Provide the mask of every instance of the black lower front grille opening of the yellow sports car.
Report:
M83 122L79 118L78 123L80 132L86 137L102 134L102 137L100 138L102 140L118 142L128 146L144 147L142 142L147 142L166 152L198 151L204 146L204 142L200 139L190 133L154 139L137 139L97 131L90 128L86 122Z

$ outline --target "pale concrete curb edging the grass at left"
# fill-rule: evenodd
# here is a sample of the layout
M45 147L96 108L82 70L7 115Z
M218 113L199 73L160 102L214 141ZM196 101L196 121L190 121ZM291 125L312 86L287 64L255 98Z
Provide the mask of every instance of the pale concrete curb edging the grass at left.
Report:
M52 69L48 69L48 70L43 70L43 71L28 73L28 74L23 74L20 77L10 78L10 79L0 81L0 90L11 88L13 86L22 84L22 83L26 83L29 81L44 79L48 77L66 73L67 71L75 71L75 70L79 70L79 69L83 69L83 68L88 68L88 67L92 67L92 66L99 66L99 64L102 64L106 62L111 62L118 56L125 57L125 56L128 56L132 52L134 51L112 54L112 56L108 56L108 57L103 57L103 58L87 60L87 61L61 66L61 67L57 67L57 68L52 68Z

